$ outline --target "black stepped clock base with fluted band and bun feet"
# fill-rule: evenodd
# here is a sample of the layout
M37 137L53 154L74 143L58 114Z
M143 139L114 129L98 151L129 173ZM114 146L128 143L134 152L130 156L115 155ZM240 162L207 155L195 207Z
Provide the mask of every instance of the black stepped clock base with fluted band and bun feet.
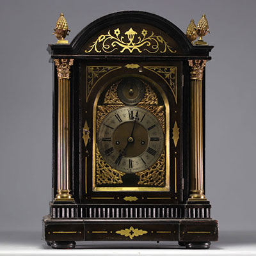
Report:
M218 221L210 218L209 202L147 206L51 203L50 207L55 217L44 217L44 239L56 249L74 248L75 241L178 241L189 249L207 249L211 241L218 241ZM113 216L117 211L120 218Z

